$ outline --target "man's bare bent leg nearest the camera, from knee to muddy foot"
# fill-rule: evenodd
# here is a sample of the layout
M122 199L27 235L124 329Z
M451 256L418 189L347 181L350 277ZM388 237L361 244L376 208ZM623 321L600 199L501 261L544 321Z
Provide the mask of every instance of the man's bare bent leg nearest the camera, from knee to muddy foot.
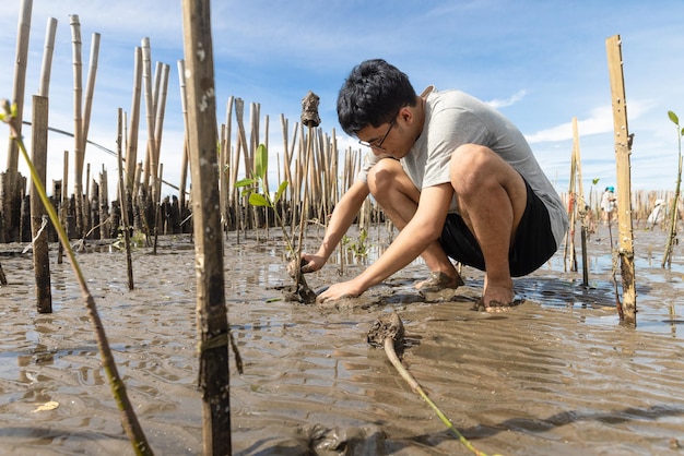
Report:
M450 175L461 217L484 256L484 305L507 304L514 299L508 253L527 204L524 181L492 149L474 144L456 149Z

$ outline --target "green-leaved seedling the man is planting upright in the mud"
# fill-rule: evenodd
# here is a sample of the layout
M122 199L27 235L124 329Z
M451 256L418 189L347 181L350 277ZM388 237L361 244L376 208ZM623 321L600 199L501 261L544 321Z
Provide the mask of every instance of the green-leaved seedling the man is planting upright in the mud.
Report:
M287 243L287 250L290 252L294 252L294 248L292 247L292 240L290 239L290 235L285 230L285 224L281 218L280 214L275 209L279 201L283 196L285 189L287 189L288 182L283 181L278 187L278 191L271 196L268 191L266 191L266 175L269 169L269 152L266 148L266 145L259 144L257 147L257 154L255 155L255 172L251 178L245 178L237 182L235 182L236 189L243 189L243 195L249 195L249 204L257 207L267 207L273 209L275 214L275 218L281 229L283 230L283 236L285 238L285 242ZM262 193L259 192L259 189L264 189Z

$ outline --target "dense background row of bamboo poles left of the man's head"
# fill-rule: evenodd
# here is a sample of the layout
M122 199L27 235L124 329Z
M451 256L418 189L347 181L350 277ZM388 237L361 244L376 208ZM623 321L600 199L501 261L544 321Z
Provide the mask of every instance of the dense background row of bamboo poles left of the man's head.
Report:
M19 107L19 117L22 118L24 105L24 85L26 75L28 29L31 26L31 0L22 1L20 17L20 35L17 37L17 65L15 69L15 86L13 101ZM119 200L109 202L107 170L102 169L99 179L91 179L91 165L85 161L85 149L89 144L87 135L93 106L97 60L99 52L99 34L93 34L87 83L83 87L82 39L81 25L78 15L70 16L73 56L73 160L74 175L69 176L69 152L63 156L63 177L52 182L52 203L59 208L62 223L68 227L70 238L107 239L120 235L120 195ZM49 99L49 75L51 56L55 48L57 20L48 20L45 41L45 52L40 73L40 88L38 95ZM140 47L133 55L133 88L130 109L130 121L123 120L123 143L121 145L125 166L125 197L128 201L129 217L133 228L146 235L190 232L191 214L186 190L188 170L187 144L182 148L182 165L179 187L174 187L177 195L162 197L163 164L161 157L162 133L165 117L166 96L168 89L169 65L156 63L152 71L152 51L149 38L143 38ZM177 62L180 81L181 107L185 123L188 115L186 106L185 62ZM145 125L148 140L144 146L144 157L139 159L139 133L141 130L141 111L144 103ZM294 227L300 219L303 208L303 193L306 189L309 199L309 214L325 223L340 194L351 185L355 173L361 166L361 151L345 151L342 163L334 130L331 135L320 129L304 129L296 122L288 136L288 120L281 115L282 153L271 154L276 157L276 178L290 182L286 197L281 204L284 219ZM32 124L32 122L23 122ZM270 224L272 216L259 214L248 207L241 199L234 183L243 176L249 176L253 170L253 155L260 143L269 145L269 117L264 118L264 131L260 129L260 105L252 103L249 110L249 124L245 122L245 103L240 98L231 97L227 103L226 122L221 127L220 144L221 156L221 214L225 230L253 228ZM52 129L55 130L55 129ZM59 132L59 131L58 131ZM64 132L62 132L64 133ZM312 154L305 163L304 147L312 135ZM186 137L187 128L186 128ZM297 141L299 139L299 141ZM114 153L113 153L114 154ZM0 242L27 242L30 235L30 195L26 193L26 179L17 171L19 151L14 142L10 141L7 172L0 175ZM282 164L281 164L282 160ZM308 166L307 166L308 165ZM86 170L85 178L83 177ZM308 170L305 176L305 169ZM73 179L73 193L69 195L69 181ZM92 183L91 183L92 182ZM268 191L268 189L264 189ZM252 214L247 214L252 213ZM187 223L182 223L187 220ZM50 239L56 235L51 231Z

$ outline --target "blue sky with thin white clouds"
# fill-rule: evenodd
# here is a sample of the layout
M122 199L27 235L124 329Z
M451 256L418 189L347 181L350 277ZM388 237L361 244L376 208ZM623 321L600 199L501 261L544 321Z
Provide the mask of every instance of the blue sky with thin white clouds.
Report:
M11 98L21 0L2 1L0 98ZM161 161L164 180L177 185L184 141L177 71L184 59L181 0L33 1L24 119L30 120L39 86L46 24L55 17L49 124L68 132L73 131L72 14L81 24L84 85L93 34L101 34L89 141L116 151L117 110L131 110L134 49L143 38L151 43L153 69L157 62L170 67ZM354 65L382 58L405 72L418 93L431 84L458 88L499 109L526 135L558 192L568 188L573 118L585 191L593 179L595 188L615 185L605 40L620 35L628 128L635 134L632 190L674 189L679 137L668 111L684 123L682 0L221 0L212 1L211 16L217 122L225 122L231 96L245 100L246 122L249 104L258 103L262 130L269 117L272 157L282 155L281 115L292 130L308 91L320 97L320 128L328 134L334 129L339 149L359 147L339 127L337 94ZM146 142L144 116L142 101L139 157ZM30 128L23 135L30 146ZM50 179L61 178L73 139L50 133L48 141L50 189ZM85 161L91 176L107 170L115 200L116 157L91 144ZM0 169L5 164L7 145L0 143ZM21 157L20 164L27 176ZM162 193L175 191L165 187Z

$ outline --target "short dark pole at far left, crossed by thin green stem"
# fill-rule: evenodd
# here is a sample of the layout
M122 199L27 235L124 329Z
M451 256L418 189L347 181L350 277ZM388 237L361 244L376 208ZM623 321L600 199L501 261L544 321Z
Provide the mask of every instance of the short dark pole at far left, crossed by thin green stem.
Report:
M45 187L47 175L47 127L48 99L33 97L32 120L32 161L36 178ZM36 300L38 313L52 313L52 293L50 291L50 259L48 256L47 212L38 195L35 183L31 185L31 232L33 238L33 269L36 279Z

